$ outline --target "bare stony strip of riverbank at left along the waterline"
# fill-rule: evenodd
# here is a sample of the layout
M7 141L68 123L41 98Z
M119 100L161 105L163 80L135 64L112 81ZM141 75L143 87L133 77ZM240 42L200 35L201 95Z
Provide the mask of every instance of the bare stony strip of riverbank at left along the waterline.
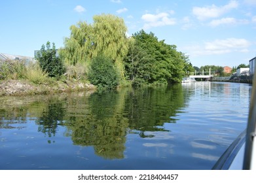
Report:
M7 95L37 95L61 92L75 92L88 90L96 91L96 86L81 81L56 81L48 83L34 84L29 80L3 80L0 81L0 97Z

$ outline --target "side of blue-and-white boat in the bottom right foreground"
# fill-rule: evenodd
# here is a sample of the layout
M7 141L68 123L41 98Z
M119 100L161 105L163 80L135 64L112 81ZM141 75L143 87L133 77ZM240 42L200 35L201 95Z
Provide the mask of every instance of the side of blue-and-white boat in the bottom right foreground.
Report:
M212 169L256 169L256 75L253 78L247 128L232 142Z

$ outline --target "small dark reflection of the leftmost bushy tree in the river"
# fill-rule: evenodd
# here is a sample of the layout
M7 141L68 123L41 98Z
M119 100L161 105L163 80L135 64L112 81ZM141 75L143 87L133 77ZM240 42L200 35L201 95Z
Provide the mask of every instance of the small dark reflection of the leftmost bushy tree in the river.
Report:
M38 131L52 137L58 125L64 125L65 108L62 103L50 103L37 120Z

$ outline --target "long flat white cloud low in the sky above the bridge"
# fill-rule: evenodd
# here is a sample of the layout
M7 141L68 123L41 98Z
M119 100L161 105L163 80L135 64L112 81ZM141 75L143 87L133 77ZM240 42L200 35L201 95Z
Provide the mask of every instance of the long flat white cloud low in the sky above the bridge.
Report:
M191 56L204 56L204 55L219 55L227 54L230 52L247 52L250 42L246 39L216 39L211 42L204 42L204 45L187 46L185 50Z

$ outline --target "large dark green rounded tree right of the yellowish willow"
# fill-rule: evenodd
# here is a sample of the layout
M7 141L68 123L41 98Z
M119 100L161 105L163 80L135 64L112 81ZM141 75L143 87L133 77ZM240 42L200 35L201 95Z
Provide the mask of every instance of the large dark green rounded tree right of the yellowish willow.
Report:
M175 45L158 41L153 33L143 30L130 38L124 64L126 77L134 84L180 82L186 69L192 69L188 58L177 52Z

